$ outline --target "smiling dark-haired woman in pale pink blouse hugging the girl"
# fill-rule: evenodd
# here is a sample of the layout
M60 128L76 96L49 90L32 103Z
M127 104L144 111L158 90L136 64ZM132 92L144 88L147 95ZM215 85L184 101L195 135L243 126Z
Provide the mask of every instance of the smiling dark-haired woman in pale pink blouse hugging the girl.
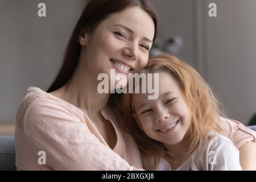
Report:
M97 76L109 76L111 68L126 74L144 68L157 26L148 0L89 1L55 81L47 92L28 88L19 106L15 130L18 169L142 168L141 154L122 126L114 94L98 92ZM246 153L253 151L251 142L247 147ZM46 164L38 163L38 154L44 154L40 151L46 154Z

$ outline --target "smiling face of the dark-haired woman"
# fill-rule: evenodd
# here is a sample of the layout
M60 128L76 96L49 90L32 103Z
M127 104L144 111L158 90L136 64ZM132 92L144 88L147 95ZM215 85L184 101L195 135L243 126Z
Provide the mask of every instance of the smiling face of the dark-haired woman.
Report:
M80 37L83 66L93 79L100 73L110 78L110 69L114 69L115 75L125 73L128 78L128 73L146 66L154 33L152 18L139 7L111 14L92 33ZM127 81L121 84L125 86Z

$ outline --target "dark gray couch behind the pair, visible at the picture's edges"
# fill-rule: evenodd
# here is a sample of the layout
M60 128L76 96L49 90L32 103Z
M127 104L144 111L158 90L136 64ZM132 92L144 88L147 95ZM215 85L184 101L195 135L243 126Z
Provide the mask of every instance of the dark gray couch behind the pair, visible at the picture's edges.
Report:
M256 125L250 126L256 131ZM14 137L0 136L0 171L16 170Z

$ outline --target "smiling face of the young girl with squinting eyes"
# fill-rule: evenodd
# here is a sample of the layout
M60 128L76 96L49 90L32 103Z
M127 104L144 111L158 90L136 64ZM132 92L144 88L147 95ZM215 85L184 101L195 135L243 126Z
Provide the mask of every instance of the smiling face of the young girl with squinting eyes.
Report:
M159 73L159 97L148 100L148 94L133 94L133 117L148 137L173 145L181 142L190 125L190 114L183 94L166 72Z

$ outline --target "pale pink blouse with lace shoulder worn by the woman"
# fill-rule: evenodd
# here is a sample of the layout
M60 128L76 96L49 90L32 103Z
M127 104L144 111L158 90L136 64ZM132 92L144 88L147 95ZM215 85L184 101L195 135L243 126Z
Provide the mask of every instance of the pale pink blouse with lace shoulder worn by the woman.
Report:
M114 112L113 112L114 111ZM118 125L115 109L101 110L117 134L112 150L87 111L36 87L29 87L16 114L19 170L136 170L142 159L134 139ZM42 164L45 152L46 164ZM118 155L117 155L118 154ZM40 162L41 161L41 162Z

